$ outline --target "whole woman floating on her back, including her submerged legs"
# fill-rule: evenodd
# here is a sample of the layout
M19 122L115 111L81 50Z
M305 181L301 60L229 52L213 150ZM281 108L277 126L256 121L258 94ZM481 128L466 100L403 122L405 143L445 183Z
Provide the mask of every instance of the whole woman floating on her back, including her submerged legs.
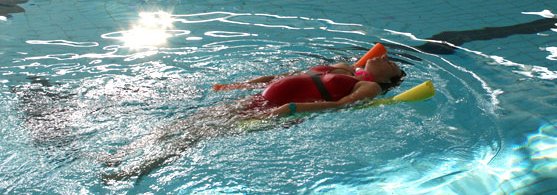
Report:
M363 68L346 63L320 65L303 73L263 76L231 84L234 88L266 88L260 94L232 104L201 108L194 116L158 128L150 136L110 154L103 159L105 165L119 166L137 149L156 151L138 157L142 161L139 165L132 163L131 167L104 174L103 179L108 182L141 177L168 159L181 156L200 141L245 133L234 130L240 121L335 108L374 98L400 85L405 76L398 65L381 56L367 60Z

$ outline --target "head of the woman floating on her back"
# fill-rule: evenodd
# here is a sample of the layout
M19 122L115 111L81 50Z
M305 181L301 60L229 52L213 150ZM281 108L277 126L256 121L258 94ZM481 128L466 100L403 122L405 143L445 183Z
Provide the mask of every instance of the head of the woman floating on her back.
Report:
M406 77L406 73L386 56L368 60L364 70L373 75L375 82L381 86L383 94L399 86Z

